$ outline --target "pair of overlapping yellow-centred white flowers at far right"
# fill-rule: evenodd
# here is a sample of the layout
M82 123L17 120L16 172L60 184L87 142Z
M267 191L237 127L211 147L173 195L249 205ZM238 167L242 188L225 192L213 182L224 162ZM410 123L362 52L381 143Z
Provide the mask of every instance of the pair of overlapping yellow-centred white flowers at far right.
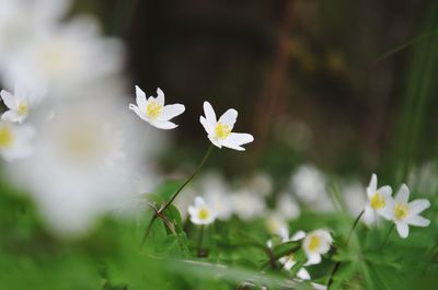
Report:
M427 199L416 199L411 202L410 188L402 184L395 198L392 196L392 188L388 185L379 187L377 175L372 174L367 187L368 204L365 208L365 216L379 214L387 220L395 223L401 237L405 239L410 234L410 227L428 227L430 221L420 217L419 213L430 207Z

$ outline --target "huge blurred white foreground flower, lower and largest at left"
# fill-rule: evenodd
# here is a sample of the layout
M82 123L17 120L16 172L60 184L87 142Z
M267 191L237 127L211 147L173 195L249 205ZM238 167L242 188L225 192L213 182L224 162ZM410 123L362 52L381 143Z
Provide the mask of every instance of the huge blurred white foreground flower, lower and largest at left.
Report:
M140 131L124 106L111 95L93 95L58 104L51 120L46 112L35 114L35 152L10 173L56 234L85 234L102 213L138 202L132 176L143 154L141 144L125 140L136 140Z

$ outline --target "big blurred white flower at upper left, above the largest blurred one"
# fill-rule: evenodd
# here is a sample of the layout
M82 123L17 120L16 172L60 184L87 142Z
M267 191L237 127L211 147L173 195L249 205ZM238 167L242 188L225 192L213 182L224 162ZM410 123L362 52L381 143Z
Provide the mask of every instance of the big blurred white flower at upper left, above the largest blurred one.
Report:
M82 16L43 30L4 56L3 82L11 85L26 80L31 88L61 98L120 73L123 45L116 38L102 37L97 26L93 19Z

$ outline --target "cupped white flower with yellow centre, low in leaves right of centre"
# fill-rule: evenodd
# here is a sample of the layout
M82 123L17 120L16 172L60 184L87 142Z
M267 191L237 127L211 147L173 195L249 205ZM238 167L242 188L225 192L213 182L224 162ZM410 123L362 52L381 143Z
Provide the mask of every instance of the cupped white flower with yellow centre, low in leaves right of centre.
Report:
M302 243L308 263L306 265L315 265L321 263L321 255L330 251L333 239L327 230L315 230L308 233Z

